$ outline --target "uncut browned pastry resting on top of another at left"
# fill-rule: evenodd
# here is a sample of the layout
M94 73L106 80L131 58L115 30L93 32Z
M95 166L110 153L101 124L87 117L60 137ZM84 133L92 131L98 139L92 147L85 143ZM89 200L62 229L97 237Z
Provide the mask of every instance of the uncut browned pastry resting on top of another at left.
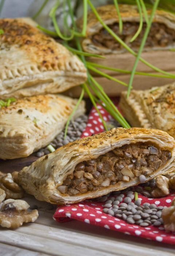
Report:
M78 57L33 25L0 19L0 98L59 93L86 80Z

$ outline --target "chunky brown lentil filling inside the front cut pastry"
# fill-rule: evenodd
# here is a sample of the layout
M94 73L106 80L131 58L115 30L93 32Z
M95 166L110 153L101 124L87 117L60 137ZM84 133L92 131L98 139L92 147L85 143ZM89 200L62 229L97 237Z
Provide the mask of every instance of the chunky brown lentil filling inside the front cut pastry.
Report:
M83 161L57 189L62 194L76 195L131 181L140 175L150 175L171 158L170 151L148 143L136 143L115 148L96 159Z

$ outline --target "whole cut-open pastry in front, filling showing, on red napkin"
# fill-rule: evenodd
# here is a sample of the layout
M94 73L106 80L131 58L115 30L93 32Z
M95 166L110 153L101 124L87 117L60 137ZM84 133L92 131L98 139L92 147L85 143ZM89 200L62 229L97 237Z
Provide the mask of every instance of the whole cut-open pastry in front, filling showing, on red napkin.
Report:
M172 172L174 158L175 140L166 132L113 128L39 158L18 177L38 200L74 203Z

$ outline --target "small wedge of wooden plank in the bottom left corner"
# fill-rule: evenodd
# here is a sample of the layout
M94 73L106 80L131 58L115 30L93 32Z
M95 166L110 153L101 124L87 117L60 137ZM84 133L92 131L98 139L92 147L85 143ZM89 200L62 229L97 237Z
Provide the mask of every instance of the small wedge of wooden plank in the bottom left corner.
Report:
M26 249L22 249L19 247L15 247L12 245L6 245L0 243L0 255L1 256L47 256L49 254L45 253L37 253L28 251Z

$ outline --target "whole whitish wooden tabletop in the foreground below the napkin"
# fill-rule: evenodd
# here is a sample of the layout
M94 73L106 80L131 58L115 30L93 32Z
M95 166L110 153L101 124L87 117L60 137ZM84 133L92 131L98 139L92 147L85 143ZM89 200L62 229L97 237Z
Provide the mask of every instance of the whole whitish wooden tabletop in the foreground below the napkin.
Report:
M81 221L58 223L52 216L55 205L24 198L37 205L39 217L18 229L0 229L0 256L170 256L175 246L129 236Z

